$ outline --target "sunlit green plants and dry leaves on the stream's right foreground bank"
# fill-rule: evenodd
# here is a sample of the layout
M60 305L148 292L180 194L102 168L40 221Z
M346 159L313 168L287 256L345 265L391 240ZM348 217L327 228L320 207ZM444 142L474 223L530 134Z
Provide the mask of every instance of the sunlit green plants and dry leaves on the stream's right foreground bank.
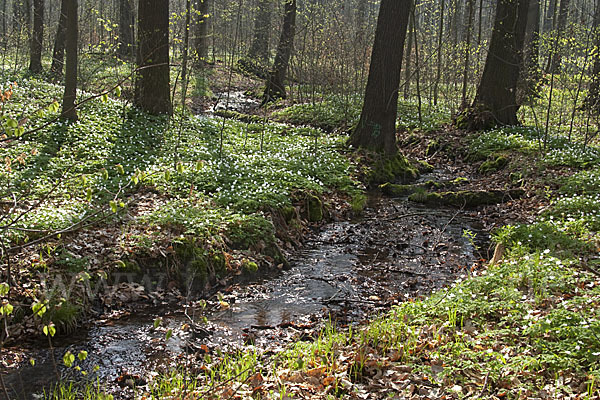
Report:
M480 140L481 148L498 151L488 137L492 143ZM597 398L598 176L596 167L564 178L562 195L535 221L496 231L495 241L506 248L498 263L473 268L450 287L366 325L328 325L313 341L249 370L277 382L279 394L301 391L300 382L308 391L345 397L364 393L357 384L373 388L371 379L379 384L389 375L417 387L425 381L422 388L439 387L448 398ZM223 379L209 382L214 387ZM401 388L395 394L412 395L412 385L395 383Z

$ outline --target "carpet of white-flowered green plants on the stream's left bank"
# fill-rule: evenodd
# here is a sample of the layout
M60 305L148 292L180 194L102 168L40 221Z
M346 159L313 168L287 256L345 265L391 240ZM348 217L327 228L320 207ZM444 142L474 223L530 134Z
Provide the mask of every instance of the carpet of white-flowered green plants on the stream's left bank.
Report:
M25 131L57 117L46 106L48 99L60 98L59 86L17 83L5 115L23 120ZM343 138L307 128L200 116L167 120L110 98L85 103L79 116L76 123L52 122L0 147L2 200L15 195L23 208L42 200L18 218L14 226L20 230L3 231L6 244L33 239L28 230L72 226L111 201L120 212L146 189L174 199L201 196L203 207L223 217L284 207L298 190L358 192L348 178L349 162L337 151ZM15 218L20 211L13 210Z

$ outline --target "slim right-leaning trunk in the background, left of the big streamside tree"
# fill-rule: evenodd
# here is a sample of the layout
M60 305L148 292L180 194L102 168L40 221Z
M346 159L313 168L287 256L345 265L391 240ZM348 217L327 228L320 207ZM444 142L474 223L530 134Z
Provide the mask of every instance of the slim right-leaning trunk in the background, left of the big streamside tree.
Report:
M283 17L283 28L277 54L273 63L273 70L269 73L265 93L263 95L263 105L277 100L285 99L285 77L287 68L294 47L294 36L296 34L296 0L286 0L285 15Z

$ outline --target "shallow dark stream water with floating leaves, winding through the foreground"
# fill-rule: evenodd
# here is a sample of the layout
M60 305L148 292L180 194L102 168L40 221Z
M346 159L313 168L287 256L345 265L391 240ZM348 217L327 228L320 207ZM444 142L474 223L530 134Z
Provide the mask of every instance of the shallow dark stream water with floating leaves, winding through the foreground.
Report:
M360 323L465 275L480 258L477 247L487 240L472 221L452 209L372 198L360 219L315 230L292 258L289 270L223 290L228 308L217 301L206 309L190 303L98 321L88 330L57 339L53 351L32 350L35 366L25 362L4 375L6 386L16 399L37 398L56 380L56 372L63 377L78 374L62 366L65 351L76 355L86 350L89 356L81 367L91 370L97 365L92 375L116 398L127 398L131 393L119 386L119 377L136 376L143 384L149 371L176 365L182 353L250 342L276 351L317 330L320 321L340 326ZM477 233L475 241L464 230ZM155 329L157 317L162 323ZM208 322L201 323L204 317ZM173 335L165 340L168 329Z

